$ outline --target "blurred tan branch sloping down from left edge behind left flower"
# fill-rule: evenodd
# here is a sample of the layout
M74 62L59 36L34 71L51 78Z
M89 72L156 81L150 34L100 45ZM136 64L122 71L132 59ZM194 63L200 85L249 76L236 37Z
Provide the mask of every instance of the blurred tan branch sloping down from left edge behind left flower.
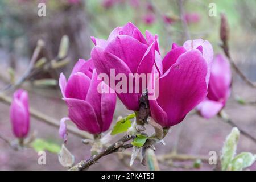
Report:
M6 94L0 93L0 100L5 102L6 104L11 104L11 97L7 96ZM43 121L43 122L47 123L48 125L51 125L51 126L54 126L57 128L59 128L59 126L60 126L59 121L57 119L53 119L53 118L49 117L48 115L43 114L40 111L33 109L32 107L30 107L30 114L32 117L39 119L39 121ZM69 133L77 135L78 137L93 139L92 135L82 132L80 130L77 130L76 127L74 127L74 126L68 126L67 130Z

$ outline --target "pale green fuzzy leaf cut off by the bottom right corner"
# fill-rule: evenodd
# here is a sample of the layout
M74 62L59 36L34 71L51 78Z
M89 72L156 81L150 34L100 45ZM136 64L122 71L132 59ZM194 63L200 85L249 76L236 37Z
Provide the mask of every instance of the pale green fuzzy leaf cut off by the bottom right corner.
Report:
M242 169L251 166L255 162L256 156L250 152L238 154L231 162L232 171L242 171Z

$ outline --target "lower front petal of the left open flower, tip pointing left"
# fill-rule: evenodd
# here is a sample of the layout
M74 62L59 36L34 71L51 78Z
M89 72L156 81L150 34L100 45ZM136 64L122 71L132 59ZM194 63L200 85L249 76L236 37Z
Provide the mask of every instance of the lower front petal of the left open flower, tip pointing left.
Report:
M86 101L64 98L68 105L68 116L80 130L91 134L101 132L93 107Z

